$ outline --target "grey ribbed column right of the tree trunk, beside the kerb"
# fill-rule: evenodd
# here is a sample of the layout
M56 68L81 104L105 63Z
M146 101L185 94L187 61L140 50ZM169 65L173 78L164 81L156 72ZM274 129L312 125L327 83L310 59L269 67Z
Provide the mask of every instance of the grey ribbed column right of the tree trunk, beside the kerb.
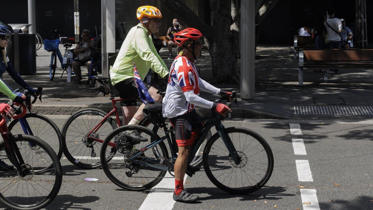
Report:
M255 98L255 1L241 0L241 99Z

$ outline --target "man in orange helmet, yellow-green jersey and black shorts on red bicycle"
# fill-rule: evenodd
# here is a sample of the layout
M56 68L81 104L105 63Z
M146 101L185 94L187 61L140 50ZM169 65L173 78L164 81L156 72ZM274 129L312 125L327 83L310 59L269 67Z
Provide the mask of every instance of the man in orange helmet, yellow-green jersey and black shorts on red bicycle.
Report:
M144 118L142 109L144 104L136 111L138 90L134 81L134 64L137 67L141 80L146 77L149 68L153 69L163 78L167 78L169 71L162 58L154 47L151 34L159 32L162 14L156 7L141 6L136 12L140 21L131 28L123 41L115 63L110 67L110 78L113 86L118 90L123 112L123 125L139 124ZM157 94L157 89L144 83L151 97L161 102L162 96ZM126 132L128 138L137 141L147 141L137 132Z

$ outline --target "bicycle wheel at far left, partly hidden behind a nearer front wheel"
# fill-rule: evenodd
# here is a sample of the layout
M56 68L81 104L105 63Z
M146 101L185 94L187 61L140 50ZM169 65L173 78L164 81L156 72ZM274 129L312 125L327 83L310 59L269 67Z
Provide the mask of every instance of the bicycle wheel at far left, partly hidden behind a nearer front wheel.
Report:
M58 126L48 117L36 113L27 113L23 119L28 123L32 135L37 136L51 146L54 152L56 152L58 159L60 159L62 157L63 149L62 134ZM9 124L8 129L12 132L12 135L24 134L19 119L13 120ZM31 133L28 134L31 135Z

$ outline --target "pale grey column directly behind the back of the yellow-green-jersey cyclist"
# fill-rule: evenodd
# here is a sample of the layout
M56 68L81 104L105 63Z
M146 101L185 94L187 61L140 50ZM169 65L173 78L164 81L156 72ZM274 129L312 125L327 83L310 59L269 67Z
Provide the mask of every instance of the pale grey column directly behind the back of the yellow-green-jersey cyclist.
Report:
M102 76L109 77L109 53L115 53L115 1L101 0Z

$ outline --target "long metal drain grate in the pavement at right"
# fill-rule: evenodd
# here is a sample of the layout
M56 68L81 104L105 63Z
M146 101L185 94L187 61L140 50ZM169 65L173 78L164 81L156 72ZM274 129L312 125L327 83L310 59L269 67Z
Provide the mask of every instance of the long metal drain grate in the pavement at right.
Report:
M294 106L294 114L373 115L372 106Z

